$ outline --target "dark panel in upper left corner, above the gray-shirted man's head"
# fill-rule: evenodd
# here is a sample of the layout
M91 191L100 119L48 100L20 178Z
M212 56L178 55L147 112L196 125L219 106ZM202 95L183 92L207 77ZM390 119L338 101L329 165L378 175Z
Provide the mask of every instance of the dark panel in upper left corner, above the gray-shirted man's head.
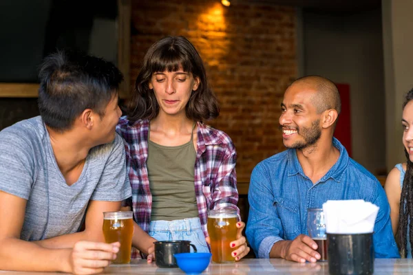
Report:
M36 83L44 56L81 50L116 64L116 0L1 0L0 82Z

